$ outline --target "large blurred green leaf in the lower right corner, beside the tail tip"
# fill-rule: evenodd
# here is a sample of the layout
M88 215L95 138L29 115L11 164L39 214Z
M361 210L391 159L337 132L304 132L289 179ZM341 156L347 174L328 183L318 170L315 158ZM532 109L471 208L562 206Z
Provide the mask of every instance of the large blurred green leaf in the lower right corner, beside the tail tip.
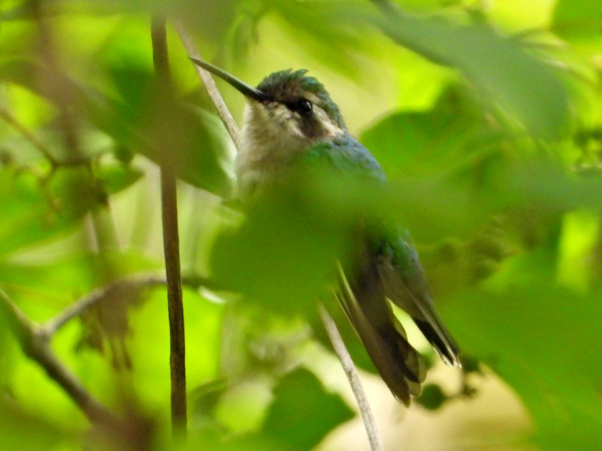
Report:
M520 394L545 449L592 449L602 443L600 293L546 283L541 262L517 259L503 293L466 292L446 318L464 349Z

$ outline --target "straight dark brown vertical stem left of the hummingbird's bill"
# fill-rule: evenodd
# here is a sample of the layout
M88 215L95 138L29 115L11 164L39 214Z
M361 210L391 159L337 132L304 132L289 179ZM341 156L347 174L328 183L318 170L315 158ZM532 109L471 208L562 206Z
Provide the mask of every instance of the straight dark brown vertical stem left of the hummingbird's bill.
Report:
M151 38L155 73L163 94L170 96L171 77L167 53L167 32L164 17L154 16ZM177 149L161 149L161 212L163 218L163 250L167 274L167 308L169 310L169 366L172 384L172 434L183 438L187 428L186 348L184 338L184 305L180 271L178 235L178 198L173 155Z

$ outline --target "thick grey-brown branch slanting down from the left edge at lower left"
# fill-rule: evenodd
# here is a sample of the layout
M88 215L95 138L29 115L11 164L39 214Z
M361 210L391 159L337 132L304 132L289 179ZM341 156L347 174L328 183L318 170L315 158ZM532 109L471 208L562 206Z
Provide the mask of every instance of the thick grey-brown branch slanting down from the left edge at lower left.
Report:
M45 329L27 318L2 289L0 289L0 311L7 319L8 326L13 330L23 353L46 370L48 376L63 388L90 422L117 424L117 418L88 393L76 376L54 355Z

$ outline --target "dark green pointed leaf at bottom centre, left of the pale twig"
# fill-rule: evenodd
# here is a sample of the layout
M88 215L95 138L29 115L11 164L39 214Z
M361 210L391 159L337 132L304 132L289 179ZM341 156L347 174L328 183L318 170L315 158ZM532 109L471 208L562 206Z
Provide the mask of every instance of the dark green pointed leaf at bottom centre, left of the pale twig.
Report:
M274 390L262 434L297 449L312 449L335 427L355 416L353 411L306 369L286 375Z

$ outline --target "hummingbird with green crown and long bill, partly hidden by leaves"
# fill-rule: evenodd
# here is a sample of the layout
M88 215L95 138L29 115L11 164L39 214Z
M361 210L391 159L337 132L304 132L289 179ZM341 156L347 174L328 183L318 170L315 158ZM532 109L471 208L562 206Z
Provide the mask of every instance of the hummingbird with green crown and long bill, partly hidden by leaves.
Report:
M274 72L252 87L213 64L190 59L247 99L241 149L235 159L237 194L243 206L316 153L333 170L386 183L379 162L349 133L337 104L308 71ZM421 393L426 364L408 342L390 302L408 313L446 364L461 366L460 350L435 309L409 233L386 221L364 230L351 267L338 265L335 294L383 381L409 406L411 396Z

